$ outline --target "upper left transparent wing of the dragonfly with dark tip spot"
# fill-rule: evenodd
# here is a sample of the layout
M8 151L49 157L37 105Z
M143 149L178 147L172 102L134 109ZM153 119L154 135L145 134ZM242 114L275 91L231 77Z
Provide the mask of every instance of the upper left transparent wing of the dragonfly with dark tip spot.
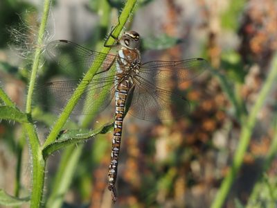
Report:
M68 40L55 40L46 46L46 53L65 71L80 75L87 71L93 62L102 62L100 71L105 71L113 64L116 55L91 51ZM78 70L78 71L76 71Z

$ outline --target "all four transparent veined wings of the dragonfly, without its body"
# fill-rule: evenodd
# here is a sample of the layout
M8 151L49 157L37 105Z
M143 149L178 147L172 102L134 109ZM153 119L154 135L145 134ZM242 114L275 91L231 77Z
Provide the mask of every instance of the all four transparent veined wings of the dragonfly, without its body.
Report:
M73 114L98 114L105 110L114 97L115 67L111 67L111 65L114 64L117 56L91 51L66 40L51 42L46 51L51 59L66 71L69 69L87 70L93 62L100 60L99 71L101 73L97 73L92 80L83 80L83 82L87 82L86 89L80 88L80 93L84 91L84 94L80 98L80 107L75 107ZM207 67L206 60L202 58L145 62L141 65L139 73L132 78L134 93L129 113L139 119L149 121L187 114L190 110L189 102L184 96L171 92L170 87L164 83L170 77L175 77L179 83L184 83L198 76ZM52 108L62 111L79 83L80 80L68 80L44 85L44 90L57 97L57 102L51 104ZM75 92L75 95L78 95L78 92ZM89 103L84 102L87 96L90 96ZM97 102L102 104L99 105L96 112L92 112L91 109ZM181 106L181 113L172 114L173 103Z

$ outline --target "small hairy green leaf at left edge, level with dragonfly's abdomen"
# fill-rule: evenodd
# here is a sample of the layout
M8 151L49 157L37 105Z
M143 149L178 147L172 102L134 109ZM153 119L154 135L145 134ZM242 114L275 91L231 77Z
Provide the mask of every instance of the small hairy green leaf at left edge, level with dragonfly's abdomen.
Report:
M26 123L28 116L24 112L20 112L15 107L0 106L0 119L17 121L19 123Z

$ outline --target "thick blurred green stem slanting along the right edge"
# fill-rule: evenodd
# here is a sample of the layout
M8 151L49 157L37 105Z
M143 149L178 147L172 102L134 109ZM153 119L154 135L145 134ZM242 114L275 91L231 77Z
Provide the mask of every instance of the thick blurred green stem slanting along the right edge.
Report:
M231 185L233 184L235 177L238 175L238 171L240 169L240 166L242 165L244 153L246 152L247 146L249 145L251 134L253 132L253 128L257 120L257 114L260 111L262 104L265 102L265 98L267 97L267 94L269 93L271 86L274 84L276 78L277 54L274 55L274 58L271 62L270 72L267 76L267 80L265 80L265 84L262 87L260 94L258 95L258 98L256 99L255 105L251 109L249 116L247 116L247 119L245 120L246 122L242 123L242 132L240 133L239 139L240 142L238 144L237 150L235 151L233 165L231 166L231 170L229 171L229 173L224 178L219 191L217 191L217 196L215 197L215 200L211 205L211 207L213 208L222 207L224 200L226 200L226 196L229 193L229 190L231 189Z

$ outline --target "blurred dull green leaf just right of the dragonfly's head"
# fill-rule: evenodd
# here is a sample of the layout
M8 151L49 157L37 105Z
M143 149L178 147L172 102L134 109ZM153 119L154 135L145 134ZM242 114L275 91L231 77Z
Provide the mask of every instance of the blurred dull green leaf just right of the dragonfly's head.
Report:
M143 50L163 50L169 49L180 42L181 39L168 36L166 33L162 33L157 37L143 39L142 48Z

